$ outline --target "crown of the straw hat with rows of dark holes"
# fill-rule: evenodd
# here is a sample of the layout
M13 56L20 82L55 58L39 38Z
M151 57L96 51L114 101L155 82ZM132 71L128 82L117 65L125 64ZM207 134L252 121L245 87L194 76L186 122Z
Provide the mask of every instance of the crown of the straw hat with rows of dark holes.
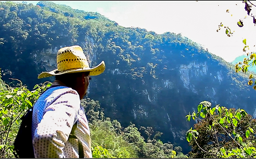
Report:
M64 47L57 52L57 69L60 72L70 69L84 69L89 67L82 47L75 45Z

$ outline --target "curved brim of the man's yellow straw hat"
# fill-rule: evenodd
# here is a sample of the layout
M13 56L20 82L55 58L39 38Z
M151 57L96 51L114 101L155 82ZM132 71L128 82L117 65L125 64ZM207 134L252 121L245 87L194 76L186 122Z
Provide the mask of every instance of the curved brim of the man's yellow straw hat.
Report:
M55 76L55 75L62 75L62 74L69 74L69 73L79 73L79 72L90 72L90 76L97 76L101 73L104 72L105 70L105 62L101 61L99 65L90 68L84 68L84 69L70 69L70 70L66 70L63 72L59 72L59 73L55 73L55 71L57 71L58 69L52 70L50 72L42 72L40 73L40 75L38 75L38 79L40 78L45 78L45 77L51 77L51 76Z

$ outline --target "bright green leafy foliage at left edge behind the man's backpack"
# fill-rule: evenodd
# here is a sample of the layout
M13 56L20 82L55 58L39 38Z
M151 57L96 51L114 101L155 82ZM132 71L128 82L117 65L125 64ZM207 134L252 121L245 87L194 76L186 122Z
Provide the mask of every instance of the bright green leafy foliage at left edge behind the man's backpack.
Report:
M13 142L17 135L20 124L20 117L26 109L33 106L40 94L51 83L46 82L42 86L35 85L34 90L30 91L20 82L18 87L10 87L0 81L0 156L10 158L13 150Z

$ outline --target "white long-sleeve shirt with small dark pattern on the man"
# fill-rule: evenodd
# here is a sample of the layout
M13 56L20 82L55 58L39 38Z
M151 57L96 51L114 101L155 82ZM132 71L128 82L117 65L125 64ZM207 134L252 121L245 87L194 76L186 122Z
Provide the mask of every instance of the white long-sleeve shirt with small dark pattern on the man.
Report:
M68 139L74 123L78 139ZM77 91L66 86L49 88L33 108L32 142L35 158L78 158L78 140L84 157L92 158L90 130Z

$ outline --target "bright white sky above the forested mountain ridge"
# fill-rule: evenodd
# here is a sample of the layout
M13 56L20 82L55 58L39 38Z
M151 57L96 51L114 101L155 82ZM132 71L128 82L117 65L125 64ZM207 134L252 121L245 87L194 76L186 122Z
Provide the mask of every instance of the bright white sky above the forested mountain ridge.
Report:
M38 2L27 1L34 5ZM243 52L243 39L246 39L250 52L256 51L256 26L252 23L252 17L247 15L242 0L52 2L65 4L73 9L100 13L123 27L144 28L157 34L181 33L227 62L246 54ZM251 2L256 5L256 1ZM256 6L253 6L251 13L256 15ZM244 24L241 28L237 25L239 19ZM221 22L234 31L233 36L228 37L223 27L216 32Z

